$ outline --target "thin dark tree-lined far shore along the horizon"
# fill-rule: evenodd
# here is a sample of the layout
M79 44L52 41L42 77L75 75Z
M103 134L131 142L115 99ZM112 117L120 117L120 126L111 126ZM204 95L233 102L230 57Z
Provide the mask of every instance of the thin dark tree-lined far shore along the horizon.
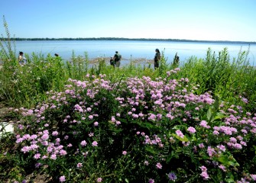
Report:
M194 43L245 43L256 44L254 41L233 41L233 40L178 40L178 39L154 39L154 38L123 38L123 37L89 37L89 38L0 38L0 40L138 40L138 41L172 41L172 42L194 42Z

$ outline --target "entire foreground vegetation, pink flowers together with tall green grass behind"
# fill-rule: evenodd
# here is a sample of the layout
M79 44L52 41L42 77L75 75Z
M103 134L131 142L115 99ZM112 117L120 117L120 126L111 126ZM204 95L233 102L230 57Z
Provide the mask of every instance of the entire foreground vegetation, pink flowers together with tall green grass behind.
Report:
M3 181L256 180L255 69L247 53L191 57L177 69L120 69L2 49L0 97L18 119L2 136Z

